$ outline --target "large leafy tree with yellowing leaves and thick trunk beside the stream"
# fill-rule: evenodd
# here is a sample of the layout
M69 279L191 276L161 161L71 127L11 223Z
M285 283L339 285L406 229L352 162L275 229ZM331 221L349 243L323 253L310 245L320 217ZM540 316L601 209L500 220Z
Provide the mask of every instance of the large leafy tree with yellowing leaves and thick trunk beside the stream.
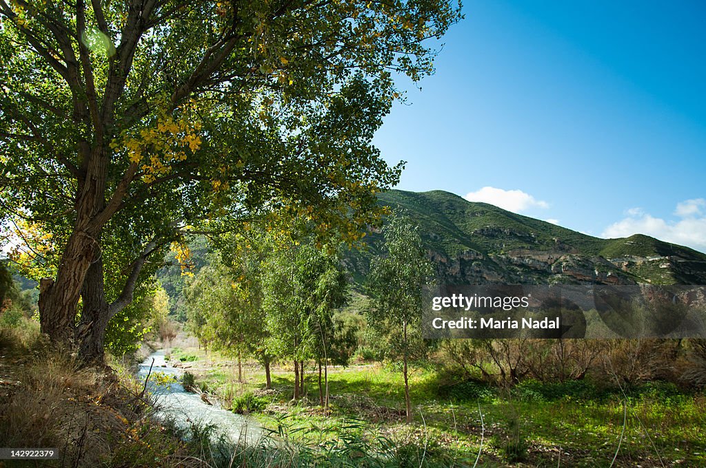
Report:
M395 75L431 73L424 39L459 18L446 0L0 0L0 222L50 239L30 255L42 331L100 357L189 227L277 206L355 240L399 177L371 145Z

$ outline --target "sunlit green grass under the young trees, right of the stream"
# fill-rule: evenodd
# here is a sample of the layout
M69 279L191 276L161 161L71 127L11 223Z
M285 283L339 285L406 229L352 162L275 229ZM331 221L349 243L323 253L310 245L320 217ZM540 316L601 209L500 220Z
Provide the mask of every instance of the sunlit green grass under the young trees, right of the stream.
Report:
M472 466L481 449L477 466L609 466L620 442L614 466L661 466L660 460L706 465L706 397L669 383L635 386L625 396L618 388L589 381L526 381L510 393L466 382L450 391L439 371L415 368L410 380L414 424L407 426L402 375L390 367L330 368L327 414L318 406L313 368L307 369L305 398L294 404L288 367L273 369L273 390L265 392L264 373L256 365L246 365L246 381L239 383L232 362L217 355L210 359L213 368L197 372L198 381L235 407L243 407L239 398L256 398L251 417L299 443L312 438L316 444L331 443L340 440L340 428L348 421L366 421L369 432L415 446L426 441L433 447L426 455L431 462Z

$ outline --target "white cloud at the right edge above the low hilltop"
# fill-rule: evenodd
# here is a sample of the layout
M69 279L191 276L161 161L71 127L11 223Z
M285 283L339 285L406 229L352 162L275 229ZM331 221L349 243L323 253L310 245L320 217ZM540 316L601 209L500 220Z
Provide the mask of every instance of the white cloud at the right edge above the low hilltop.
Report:
M642 210L628 210L628 217L608 226L603 238L626 238L633 234L647 234L653 238L686 245L706 252L706 200L691 199L680 202L674 211L679 219L655 218Z

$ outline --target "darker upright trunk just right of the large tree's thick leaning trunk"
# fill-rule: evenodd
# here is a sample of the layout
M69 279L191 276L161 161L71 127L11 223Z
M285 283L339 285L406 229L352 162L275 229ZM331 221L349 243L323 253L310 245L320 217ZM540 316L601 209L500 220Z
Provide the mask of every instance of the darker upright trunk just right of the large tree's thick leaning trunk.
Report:
M105 300L103 260L98 257L88 267L81 288L83 310L76 328L78 355L83 362L103 364L105 332L110 315Z

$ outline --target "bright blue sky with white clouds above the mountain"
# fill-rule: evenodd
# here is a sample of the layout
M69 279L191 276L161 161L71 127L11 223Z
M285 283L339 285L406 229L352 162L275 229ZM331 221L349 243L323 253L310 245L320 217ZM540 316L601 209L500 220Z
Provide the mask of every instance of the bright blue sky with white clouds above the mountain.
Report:
M446 190L706 252L706 3L470 1L375 143Z

